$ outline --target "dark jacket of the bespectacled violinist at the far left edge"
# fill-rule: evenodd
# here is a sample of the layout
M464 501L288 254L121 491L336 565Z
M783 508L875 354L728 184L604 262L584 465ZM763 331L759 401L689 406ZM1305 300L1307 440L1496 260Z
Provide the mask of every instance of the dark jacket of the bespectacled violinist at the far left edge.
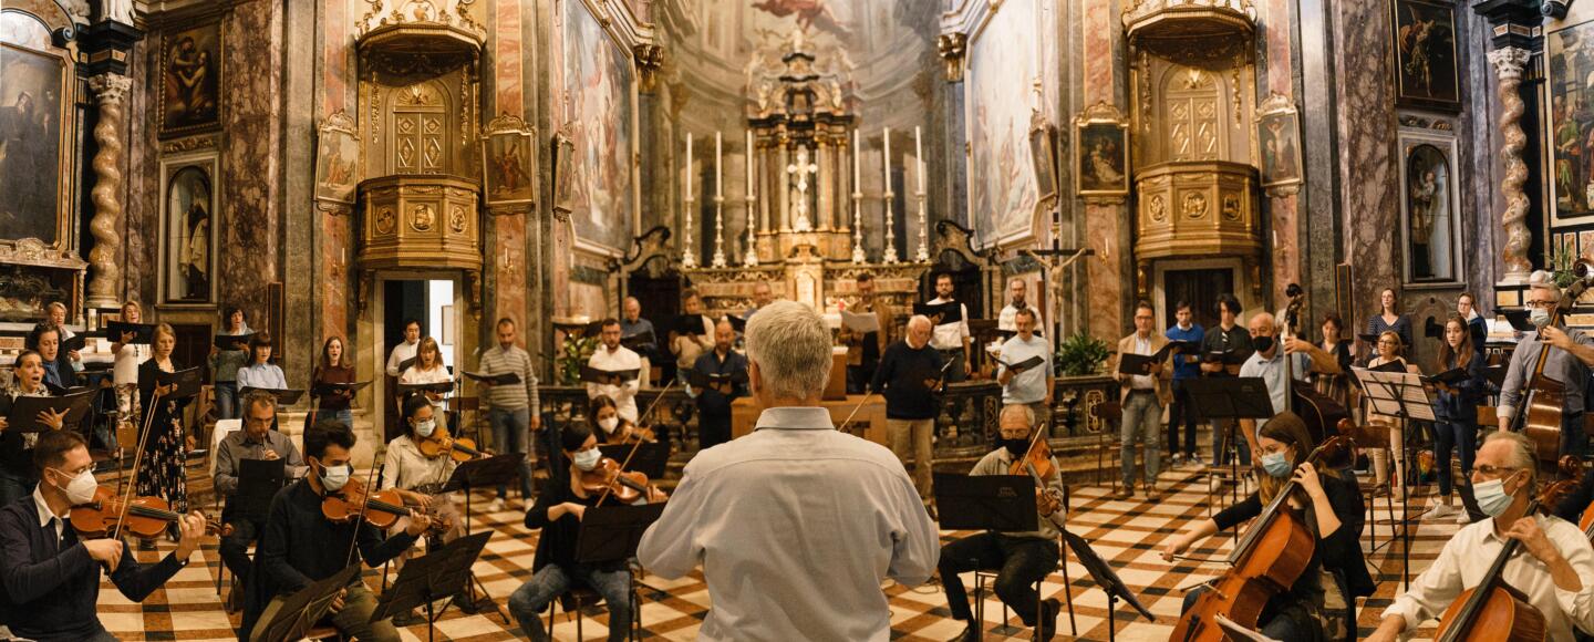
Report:
M183 567L177 554L142 566L123 546L110 581L123 597L142 602ZM89 558L69 524L38 526L33 495L0 508L0 617L11 632L38 642L75 642L105 631L96 602L102 566Z

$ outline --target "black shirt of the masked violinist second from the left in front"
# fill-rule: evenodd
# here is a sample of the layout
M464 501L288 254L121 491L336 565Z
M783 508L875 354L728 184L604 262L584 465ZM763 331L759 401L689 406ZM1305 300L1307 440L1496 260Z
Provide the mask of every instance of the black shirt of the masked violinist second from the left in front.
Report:
M249 575L250 589L244 596L244 636L271 599L303 589L317 580L336 575L354 562L349 543L359 538L365 564L381 566L408 550L416 537L400 532L383 535L370 523L338 524L320 513L322 495L298 480L271 499L266 526L260 530L255 567ZM360 581L360 580L355 580Z

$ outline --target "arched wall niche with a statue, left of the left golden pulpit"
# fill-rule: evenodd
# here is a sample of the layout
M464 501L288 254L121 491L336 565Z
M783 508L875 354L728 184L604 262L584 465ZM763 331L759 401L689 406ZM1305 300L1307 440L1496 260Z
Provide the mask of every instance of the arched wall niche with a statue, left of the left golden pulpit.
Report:
M215 303L217 156L161 161L161 303Z

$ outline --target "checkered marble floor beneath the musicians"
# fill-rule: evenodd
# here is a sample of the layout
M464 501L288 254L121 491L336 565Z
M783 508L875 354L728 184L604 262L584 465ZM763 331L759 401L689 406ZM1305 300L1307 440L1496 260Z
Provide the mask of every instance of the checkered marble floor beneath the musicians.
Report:
M1180 615L1183 589L1202 580L1215 577L1223 570L1218 564L1180 561L1164 562L1157 550L1164 538L1178 532L1194 519L1203 519L1211 511L1229 502L1229 492L1221 491L1221 497L1208 502L1210 478L1197 470L1167 472L1160 478L1165 489L1157 502L1146 502L1144 495L1130 500L1113 500L1111 487L1081 486L1073 489L1073 511L1070 530L1092 542L1097 553L1105 558L1119 577L1140 596L1140 601L1156 615L1156 621L1146 621L1130 607L1119 604L1116 612L1117 639L1133 640L1167 640ZM488 495L475 507L485 507ZM1420 500L1414 499L1412 515L1420 511ZM513 505L512 505L513 507ZM518 508L518 507L516 507ZM1384 499L1372 508L1376 519L1376 537L1379 548L1368 554L1368 562L1376 567L1374 580L1379 581L1377 593L1366 601L1361 609L1361 632L1371 632L1377 624L1379 612L1388 605L1400 591L1401 548L1400 543L1390 546L1392 526L1390 510ZM1401 503L1393 503L1393 516L1403 511ZM505 604L508 594L531 577L532 554L536 551L537 534L521 526L518 510L499 513L477 513L473 529L491 527L497 534L488 542L486 551L475 564L475 573L486 591L499 605ZM1451 519L1423 521L1412 532L1411 569L1412 573L1425 569L1444 542L1459 526ZM1371 530L1371 527L1369 527ZM952 542L964 534L942 532L944 542ZM1232 537L1215 537L1202 548L1192 550L1194 558L1221 559L1232 546ZM153 561L166 554L171 543L159 543L159 551L139 553L142 561ZM1371 546L1371 537L1363 534L1363 548ZM215 545L206 545L202 561L196 556L194 564L183 569L163 589L151 594L143 604L128 602L115 591L108 581L100 591L100 620L105 626L124 640L230 640L231 628L238 617L228 617L215 593L215 569L220 566ZM1084 567L1073 556L1068 559L1066 586L1073 589L1074 626L1078 637L1070 637L1066 612L1058 620L1058 639L1108 639L1106 594L1098 589ZM379 586L381 570L367 570L367 581ZM964 577L966 586L972 588L972 573ZM642 588L642 629L647 639L690 640L695 637L703 617L708 613L708 586L701 573L690 573L679 580L665 580L649 575ZM1052 573L1044 583L1042 593L1063 599L1063 572ZM963 623L952 620L947 610L945 596L934 583L904 588L889 586L891 597L891 629L893 639L905 640L947 640L963 631ZM1028 639L1028 629L1022 629L1019 618L1007 613L1007 623L999 623L1003 607L995 597L988 597L985 607L987 639ZM590 610L582 621L582 639L604 639L607 615L601 609ZM558 615L553 634L559 640L575 640L577 623L563 612ZM1423 629L1419 639L1431 637L1433 623ZM426 626L411 626L403 632L406 640L426 640ZM437 623L438 640L508 640L518 639L520 629L505 624L497 615L464 615L448 609Z

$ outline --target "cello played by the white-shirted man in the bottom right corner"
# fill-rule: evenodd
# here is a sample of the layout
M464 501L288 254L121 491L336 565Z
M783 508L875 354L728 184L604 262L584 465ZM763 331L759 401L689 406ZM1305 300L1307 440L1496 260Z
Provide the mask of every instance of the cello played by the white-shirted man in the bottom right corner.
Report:
M1562 480L1549 484L1529 503L1527 516L1538 513L1540 508L1561 503L1561 499L1573 492L1576 484L1576 480ZM1549 639L1545 613L1533 607L1522 591L1506 585L1500 578L1505 564L1516 556L1521 545L1522 542L1519 540L1506 540L1478 586L1462 591L1455 597L1455 602L1451 602L1451 607L1439 617L1439 631L1433 637L1435 642L1529 642Z

